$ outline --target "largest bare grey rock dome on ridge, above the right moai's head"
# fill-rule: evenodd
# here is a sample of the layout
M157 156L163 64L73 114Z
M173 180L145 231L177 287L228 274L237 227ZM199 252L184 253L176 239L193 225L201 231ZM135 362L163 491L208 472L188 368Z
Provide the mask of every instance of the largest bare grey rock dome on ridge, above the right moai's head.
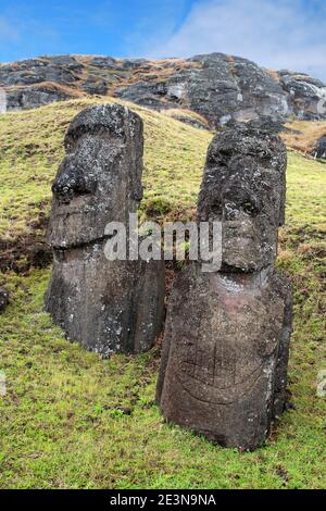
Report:
M280 84L253 62L212 53L187 63L163 82L137 83L116 94L147 107L188 108L213 127L260 115L284 117L291 111Z

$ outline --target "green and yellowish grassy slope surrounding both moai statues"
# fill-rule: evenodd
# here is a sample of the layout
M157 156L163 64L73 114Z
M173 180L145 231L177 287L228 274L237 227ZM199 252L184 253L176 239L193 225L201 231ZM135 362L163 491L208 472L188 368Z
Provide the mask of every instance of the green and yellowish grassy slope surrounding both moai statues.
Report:
M43 312L50 185L72 117L90 100L0 116L0 488L323 488L326 485L326 165L289 151L279 266L294 288L292 407L253 453L163 422L153 402L160 347L101 360ZM145 121L143 215L196 211L212 134L131 107ZM38 250L38 252L37 252ZM38 253L38 257L37 257Z

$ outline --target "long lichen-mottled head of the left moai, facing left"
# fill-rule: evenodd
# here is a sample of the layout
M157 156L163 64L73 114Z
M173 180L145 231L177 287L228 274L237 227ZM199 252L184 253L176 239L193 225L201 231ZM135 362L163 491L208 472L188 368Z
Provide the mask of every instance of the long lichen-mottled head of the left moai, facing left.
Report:
M52 186L48 234L53 248L103 237L108 222L124 222L142 196L142 121L118 104L84 110L65 137L66 157Z

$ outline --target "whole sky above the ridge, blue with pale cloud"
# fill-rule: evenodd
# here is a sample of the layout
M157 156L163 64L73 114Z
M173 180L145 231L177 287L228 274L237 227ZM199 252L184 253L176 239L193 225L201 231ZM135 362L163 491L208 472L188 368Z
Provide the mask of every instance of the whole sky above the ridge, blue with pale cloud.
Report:
M326 82L326 0L0 0L0 62L213 51Z

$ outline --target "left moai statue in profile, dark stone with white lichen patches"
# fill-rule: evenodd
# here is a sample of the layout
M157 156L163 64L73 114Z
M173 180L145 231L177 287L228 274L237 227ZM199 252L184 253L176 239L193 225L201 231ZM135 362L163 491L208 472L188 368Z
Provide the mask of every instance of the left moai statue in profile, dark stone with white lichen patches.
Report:
M72 122L65 149L52 186L46 309L91 351L146 351L162 327L164 264L105 254L105 226L128 226L142 197L142 121L116 104L88 108Z

